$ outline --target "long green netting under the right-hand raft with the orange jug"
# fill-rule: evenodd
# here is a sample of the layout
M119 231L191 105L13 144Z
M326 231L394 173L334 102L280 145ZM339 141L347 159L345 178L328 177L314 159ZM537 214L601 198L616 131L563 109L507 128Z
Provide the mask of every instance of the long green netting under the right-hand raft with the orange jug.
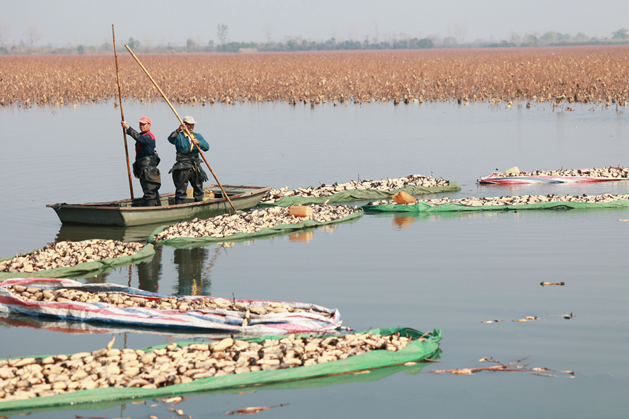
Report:
M469 212L469 211L515 211L515 210L589 210L596 208L628 208L629 200L615 200L609 203L536 203L526 205L482 205L472 207L455 203L430 205L417 203L413 205L363 205L365 212Z

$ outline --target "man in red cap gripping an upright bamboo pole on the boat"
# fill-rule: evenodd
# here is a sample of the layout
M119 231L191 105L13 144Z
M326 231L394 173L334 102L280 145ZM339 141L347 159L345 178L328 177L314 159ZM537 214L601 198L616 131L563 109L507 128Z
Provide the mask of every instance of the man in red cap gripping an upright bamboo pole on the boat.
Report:
M145 207L161 207L159 199L159 186L161 186L161 174L157 165L159 164L159 156L155 151L155 135L150 131L151 119L149 117L141 117L140 132L134 130L122 121L122 128L126 129L126 133L136 140L136 162L133 163L133 175L140 179L142 191L144 192Z

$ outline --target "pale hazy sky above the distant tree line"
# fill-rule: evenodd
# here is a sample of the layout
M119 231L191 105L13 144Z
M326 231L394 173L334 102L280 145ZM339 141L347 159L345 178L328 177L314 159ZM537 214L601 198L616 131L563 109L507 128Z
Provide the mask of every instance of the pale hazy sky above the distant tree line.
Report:
M217 24L229 27L229 41L263 42L301 36L312 41L366 36L379 40L406 34L500 41L512 32L541 36L547 31L610 37L629 28L628 0L0 0L7 43L28 43L27 24L41 31L37 45L101 45L129 37L142 45L207 44ZM377 27L377 31L376 31Z

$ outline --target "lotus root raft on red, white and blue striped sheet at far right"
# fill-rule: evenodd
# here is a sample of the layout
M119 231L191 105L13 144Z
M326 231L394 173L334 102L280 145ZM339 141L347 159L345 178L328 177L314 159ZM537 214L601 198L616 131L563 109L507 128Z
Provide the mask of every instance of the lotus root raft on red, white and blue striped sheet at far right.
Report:
M537 183L573 183L573 182L609 182L628 180L629 168L610 166L609 168L577 170L537 170L535 172L509 173L493 172L489 176L479 177L477 182L489 184L537 184Z

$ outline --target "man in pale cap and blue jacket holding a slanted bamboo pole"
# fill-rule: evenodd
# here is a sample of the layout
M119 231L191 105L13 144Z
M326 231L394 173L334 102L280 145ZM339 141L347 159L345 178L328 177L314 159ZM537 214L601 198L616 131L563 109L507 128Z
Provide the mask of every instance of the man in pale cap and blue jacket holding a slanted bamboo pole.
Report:
M194 201L203 200L203 182L208 180L208 175L201 168L201 159L198 158L198 145L204 152L210 149L208 142L203 139L203 135L193 132L196 121L193 117L185 117L181 124L171 135L168 135L168 142L175 145L177 150L176 162L168 173L173 174L175 183L175 205L184 203L186 189L190 182L194 190ZM191 138L185 133L185 129L191 133Z

